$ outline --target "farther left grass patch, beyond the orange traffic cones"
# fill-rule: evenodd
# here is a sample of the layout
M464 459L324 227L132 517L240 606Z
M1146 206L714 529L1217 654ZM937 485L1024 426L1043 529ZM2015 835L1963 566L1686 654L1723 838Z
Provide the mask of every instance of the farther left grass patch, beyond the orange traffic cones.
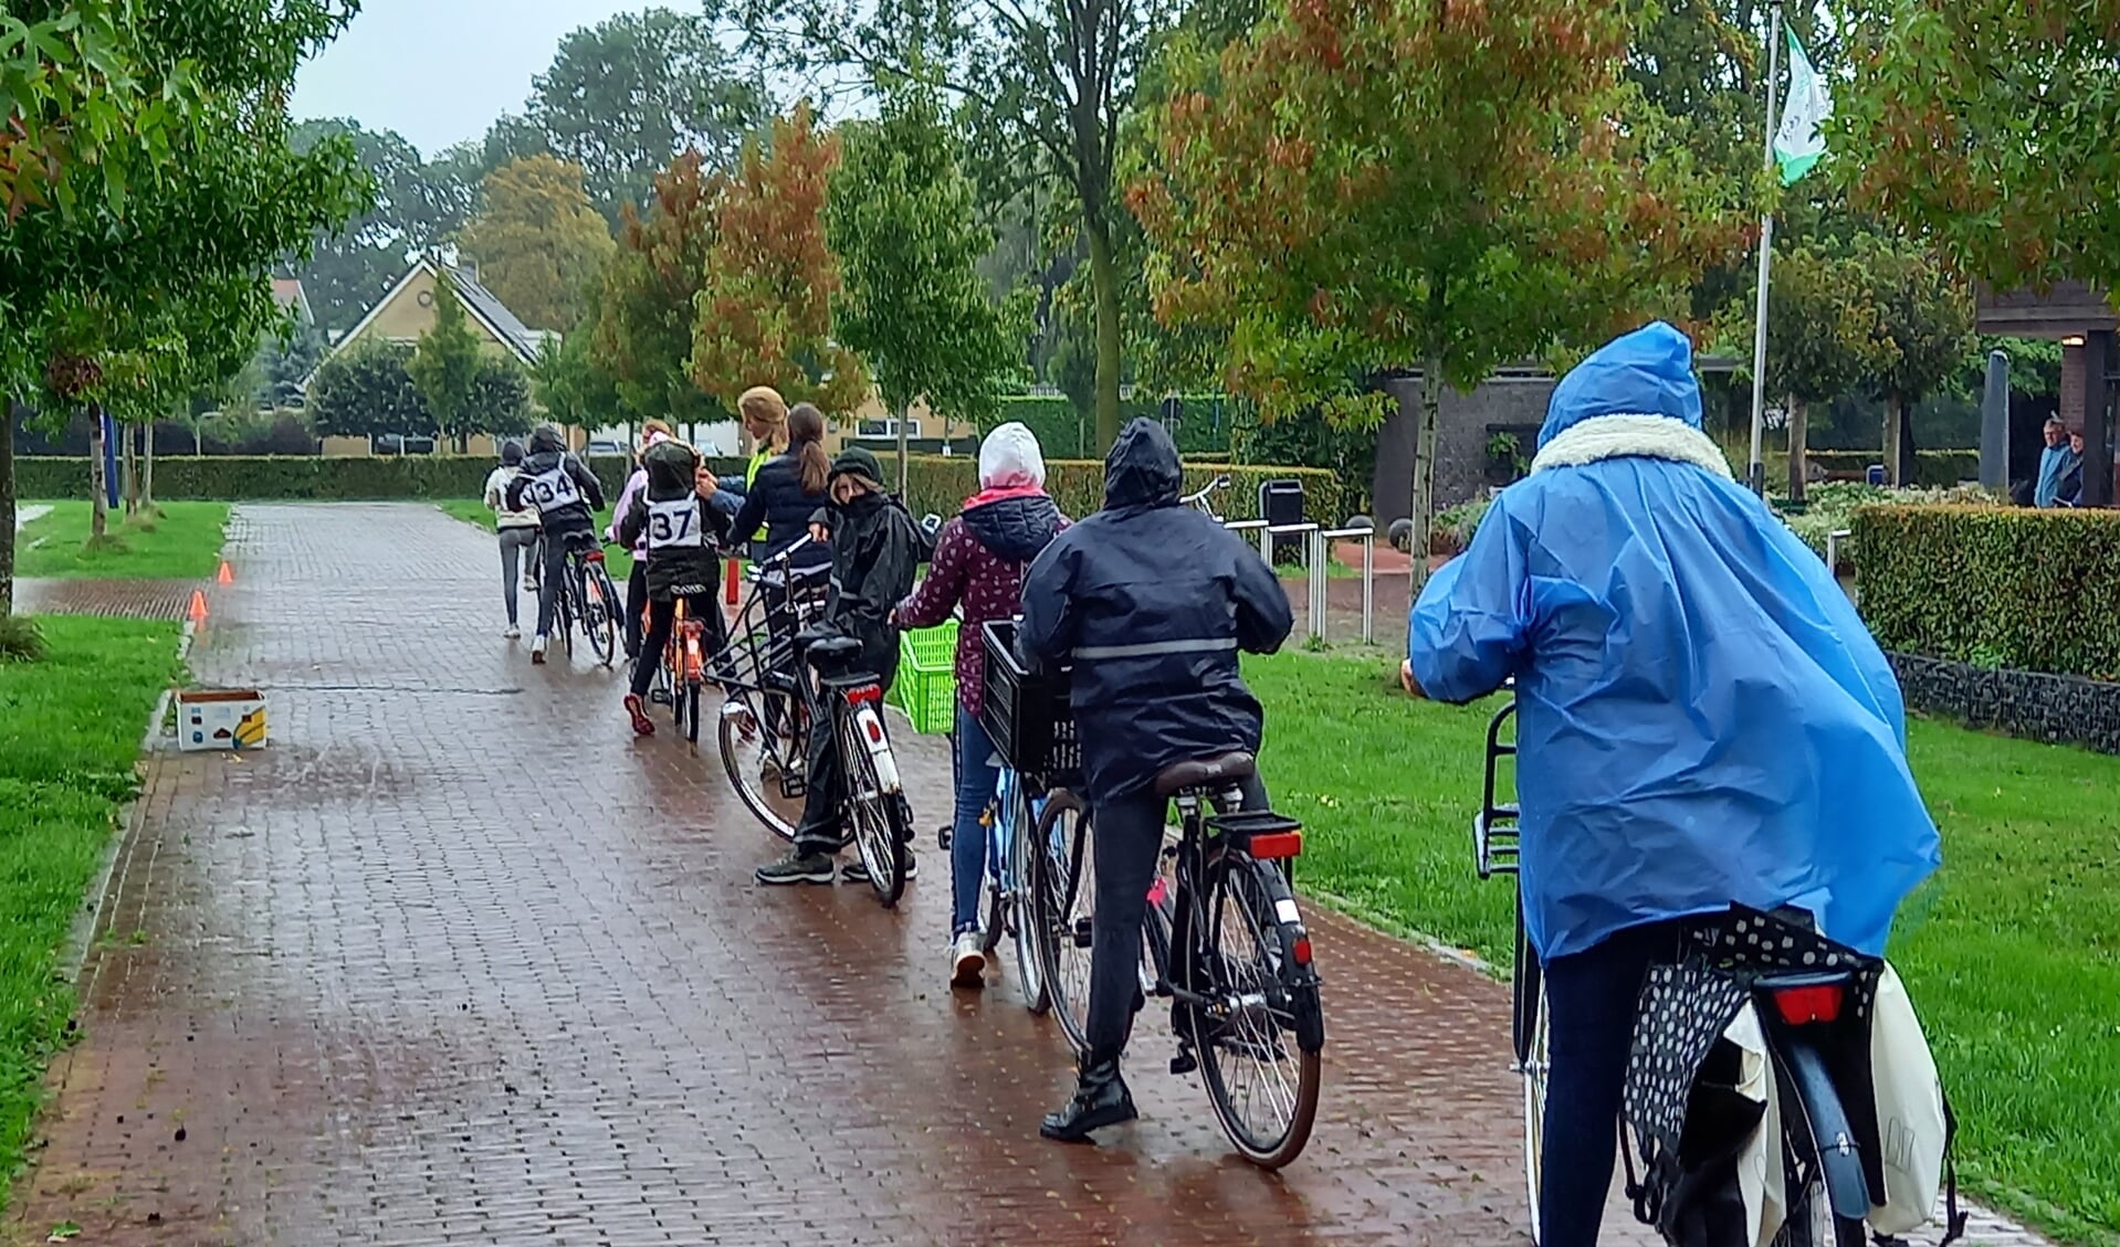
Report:
M110 512L110 544L89 548L89 502L45 502L51 512L15 534L17 576L199 580L220 567L227 502L161 502L161 517L123 523Z

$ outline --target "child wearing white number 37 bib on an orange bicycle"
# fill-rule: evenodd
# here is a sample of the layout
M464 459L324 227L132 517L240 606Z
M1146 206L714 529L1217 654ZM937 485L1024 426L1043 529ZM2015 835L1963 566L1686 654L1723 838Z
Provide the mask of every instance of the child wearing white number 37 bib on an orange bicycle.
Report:
M655 667L676 627L678 601L685 603L687 618L706 625L702 641L706 652L721 652L727 629L721 603L714 599L714 582L721 578L719 542L729 536L729 517L712 504L712 472L702 470L700 453L685 442L651 445L640 455L640 468L647 472L647 485L619 517L619 542L625 548L642 548L647 557L649 631L634 663L625 713L634 720L634 733L653 737L655 720L647 716L640 699L655 682Z

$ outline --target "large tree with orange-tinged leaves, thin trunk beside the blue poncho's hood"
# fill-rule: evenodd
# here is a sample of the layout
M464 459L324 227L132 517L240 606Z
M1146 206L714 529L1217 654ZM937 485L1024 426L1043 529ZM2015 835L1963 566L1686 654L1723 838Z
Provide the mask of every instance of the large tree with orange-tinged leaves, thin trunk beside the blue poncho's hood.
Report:
M1416 550L1444 383L1683 313L1743 241L1624 80L1628 36L1622 4L1289 0L1179 53L1151 119L1128 203L1158 320L1225 335L1268 419L1374 423L1370 379L1420 371Z

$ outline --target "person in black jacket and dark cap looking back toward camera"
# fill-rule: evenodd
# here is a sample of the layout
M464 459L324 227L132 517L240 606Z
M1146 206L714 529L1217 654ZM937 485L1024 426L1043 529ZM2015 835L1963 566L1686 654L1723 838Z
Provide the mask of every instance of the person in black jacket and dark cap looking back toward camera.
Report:
M890 692L899 673L899 629L893 627L890 612L914 586L926 538L905 504L878 483L882 474L873 453L861 447L840 451L831 464L831 506L818 508L810 525L814 538L831 542L831 597L820 627L861 641L854 671L876 675L884 692ZM736 531L742 531L740 523ZM846 777L840 775L831 737L831 716L818 716L810 724L808 794L795 847L787 857L759 866L759 883L833 879L831 857L846 847L840 826ZM905 874L912 879L909 855ZM848 879L865 881L859 864L848 866Z

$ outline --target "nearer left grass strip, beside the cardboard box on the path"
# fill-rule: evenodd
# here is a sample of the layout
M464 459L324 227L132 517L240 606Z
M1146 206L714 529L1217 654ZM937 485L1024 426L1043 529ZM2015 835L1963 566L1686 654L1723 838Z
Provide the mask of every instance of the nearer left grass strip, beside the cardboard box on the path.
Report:
M74 993L59 955L134 794L148 711L178 669L174 622L38 627L45 663L0 663L0 1173L21 1164L45 1065L66 1042Z

